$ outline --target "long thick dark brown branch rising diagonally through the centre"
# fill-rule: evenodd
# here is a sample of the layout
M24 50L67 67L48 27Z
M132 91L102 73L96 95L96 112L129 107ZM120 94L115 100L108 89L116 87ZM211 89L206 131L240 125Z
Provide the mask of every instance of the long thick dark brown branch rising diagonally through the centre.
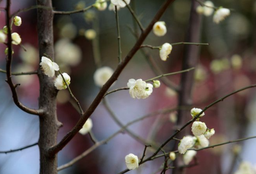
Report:
M49 149L50 155L56 154L58 151L63 149L66 146L66 144L75 136L75 134L82 128L86 120L90 117L90 115L92 115L96 107L101 102L102 98L104 97L109 87L117 80L118 76L121 74L124 67L128 64L128 62L132 59L132 57L138 51L140 45L144 42L149 32L151 32L153 25L160 19L164 11L168 8L169 4L171 4L173 1L174 0L166 0L166 2L162 5L162 7L159 9L157 14L153 18L153 20L147 26L147 28L144 30L144 32L141 33L138 41L129 51L128 55L126 55L126 57L118 64L111 78L105 83L105 85L103 85L103 87L97 94L96 98L94 99L92 104L89 106L89 108L86 110L86 112L82 115L82 117L79 119L79 121L76 123L75 127L73 127L73 129L66 136L63 137L63 139L59 142L59 144Z

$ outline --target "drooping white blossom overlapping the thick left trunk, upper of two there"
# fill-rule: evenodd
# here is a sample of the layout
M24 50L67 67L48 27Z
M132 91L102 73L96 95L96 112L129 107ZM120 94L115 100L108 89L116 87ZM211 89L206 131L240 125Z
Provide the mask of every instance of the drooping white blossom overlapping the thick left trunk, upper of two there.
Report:
M55 74L55 71L59 70L59 66L57 63L52 62L47 57L42 57L40 65L42 66L42 70L44 74L50 78L52 78Z

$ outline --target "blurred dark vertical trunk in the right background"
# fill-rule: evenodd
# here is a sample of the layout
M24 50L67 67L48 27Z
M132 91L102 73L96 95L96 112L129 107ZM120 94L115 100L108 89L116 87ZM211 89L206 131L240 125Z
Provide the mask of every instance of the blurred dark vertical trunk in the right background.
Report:
M190 19L189 19L189 28L187 32L187 38L185 42L199 42L201 38L201 15L198 15L195 11L198 4L195 0L192 1L191 11L190 11ZM182 69L185 70L187 68L192 68L197 66L198 56L199 56L199 48L196 45L184 45L184 55L182 62ZM180 91L179 91L179 106L191 106L192 98L191 91L194 82L194 71L185 72L181 74L181 82L180 82ZM180 127L184 125L189 119L191 119L189 110L178 110L178 120L177 126ZM179 134L178 138L182 138L185 134L188 133L185 129L181 134ZM174 149L178 148L178 141L174 144ZM174 166L180 166L181 160L174 161ZM173 170L173 174L182 173L183 168L175 168Z

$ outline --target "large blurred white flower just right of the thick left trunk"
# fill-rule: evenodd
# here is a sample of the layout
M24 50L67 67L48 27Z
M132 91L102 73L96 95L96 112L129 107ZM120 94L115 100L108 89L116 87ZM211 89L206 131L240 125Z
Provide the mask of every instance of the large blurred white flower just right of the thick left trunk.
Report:
M55 58L61 64L76 66L82 59L82 51L78 45L71 43L69 39L61 39L55 43Z

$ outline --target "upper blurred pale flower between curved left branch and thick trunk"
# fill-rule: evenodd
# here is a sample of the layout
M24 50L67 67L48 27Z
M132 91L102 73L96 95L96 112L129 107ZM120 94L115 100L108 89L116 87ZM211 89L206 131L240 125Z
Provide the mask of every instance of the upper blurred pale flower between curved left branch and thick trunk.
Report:
M26 48L26 51L24 49L20 49L19 51L19 56L22 61L31 65L38 64L38 50L29 43L25 43L24 47Z

